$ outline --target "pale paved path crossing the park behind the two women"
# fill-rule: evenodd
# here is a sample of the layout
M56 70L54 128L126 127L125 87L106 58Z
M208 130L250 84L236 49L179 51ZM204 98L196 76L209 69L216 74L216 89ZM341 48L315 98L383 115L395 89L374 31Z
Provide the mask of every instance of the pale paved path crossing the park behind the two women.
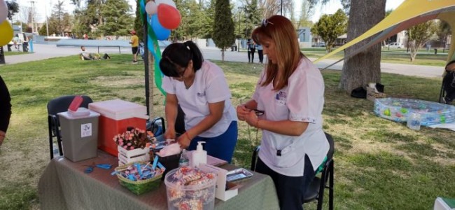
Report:
M4 48L6 49L6 48ZM130 54L130 48L121 48L122 54ZM62 57L68 55L77 55L80 52L78 47L56 47L55 45L35 44L35 53L26 55L9 55L6 56L6 64L17 64L20 62L29 62L34 60L48 59L52 57ZM97 52L97 48L87 48L88 52ZM107 52L111 54L118 53L118 48L100 48L99 52ZM202 48L202 53L207 59L221 60L221 51L216 48ZM310 58L314 60L316 58ZM246 51L244 52L225 52L225 60L232 62L247 62L248 57ZM318 68L324 68L336 62L336 59L324 59L318 62L316 66ZM258 53L255 53L255 62L258 62ZM330 69L341 70L343 62L339 62ZM419 65L408 65L408 64L390 64L381 63L381 71L386 73L398 73L407 76L420 76L430 78L440 78L444 71L441 66L419 66Z

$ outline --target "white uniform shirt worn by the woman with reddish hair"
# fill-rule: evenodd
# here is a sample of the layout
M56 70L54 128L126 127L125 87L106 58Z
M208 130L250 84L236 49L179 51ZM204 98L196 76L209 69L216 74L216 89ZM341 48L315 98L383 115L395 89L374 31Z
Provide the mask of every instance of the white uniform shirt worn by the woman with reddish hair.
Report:
M321 72L309 59L302 58L283 89L274 91L272 83L260 86L265 77L265 71L262 71L253 94L258 109L265 111L260 118L308 122L308 127L298 137L262 130L259 157L274 172L303 176L305 154L316 169L329 150L322 130L324 81ZM281 156L277 155L277 150L281 150Z

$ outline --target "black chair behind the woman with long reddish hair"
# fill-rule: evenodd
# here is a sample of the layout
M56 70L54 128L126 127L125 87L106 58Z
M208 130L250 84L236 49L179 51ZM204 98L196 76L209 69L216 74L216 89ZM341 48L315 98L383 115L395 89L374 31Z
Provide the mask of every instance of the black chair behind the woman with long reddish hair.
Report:
M333 209L333 188L334 188L334 179L333 179L333 153L335 151L335 144L333 142L332 136L330 134L325 133L325 137L327 137L328 144L330 146L329 151L327 153L327 160L323 163L323 170L321 172L321 177L315 176L313 181L309 184L307 192L303 197L303 203L308 203L317 200L318 202L318 210L322 209L323 198L324 198L324 190L328 188L328 209ZM260 146L257 146L253 151L253 155L251 156L251 171L255 171L256 161L258 158L258 153L260 150ZM327 184L328 181L328 184Z

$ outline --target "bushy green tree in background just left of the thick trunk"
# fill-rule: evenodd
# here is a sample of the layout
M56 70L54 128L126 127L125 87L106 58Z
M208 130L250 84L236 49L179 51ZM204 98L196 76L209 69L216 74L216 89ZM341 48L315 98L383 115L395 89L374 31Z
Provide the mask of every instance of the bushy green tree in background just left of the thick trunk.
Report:
M318 22L311 27L311 33L321 36L325 42L325 50L330 52L338 36L346 34L346 25L346 14L339 9L333 15L322 15Z

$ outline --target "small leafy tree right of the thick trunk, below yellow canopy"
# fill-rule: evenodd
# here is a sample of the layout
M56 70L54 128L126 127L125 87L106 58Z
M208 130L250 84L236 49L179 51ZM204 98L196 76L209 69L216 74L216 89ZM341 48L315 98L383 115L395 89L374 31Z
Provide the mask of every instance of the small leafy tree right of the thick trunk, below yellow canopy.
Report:
M414 25L407 29L406 36L411 62L414 62L416 59L417 50L419 50L427 41L430 41L430 38L435 34L436 29L434 20L422 22L421 24Z

